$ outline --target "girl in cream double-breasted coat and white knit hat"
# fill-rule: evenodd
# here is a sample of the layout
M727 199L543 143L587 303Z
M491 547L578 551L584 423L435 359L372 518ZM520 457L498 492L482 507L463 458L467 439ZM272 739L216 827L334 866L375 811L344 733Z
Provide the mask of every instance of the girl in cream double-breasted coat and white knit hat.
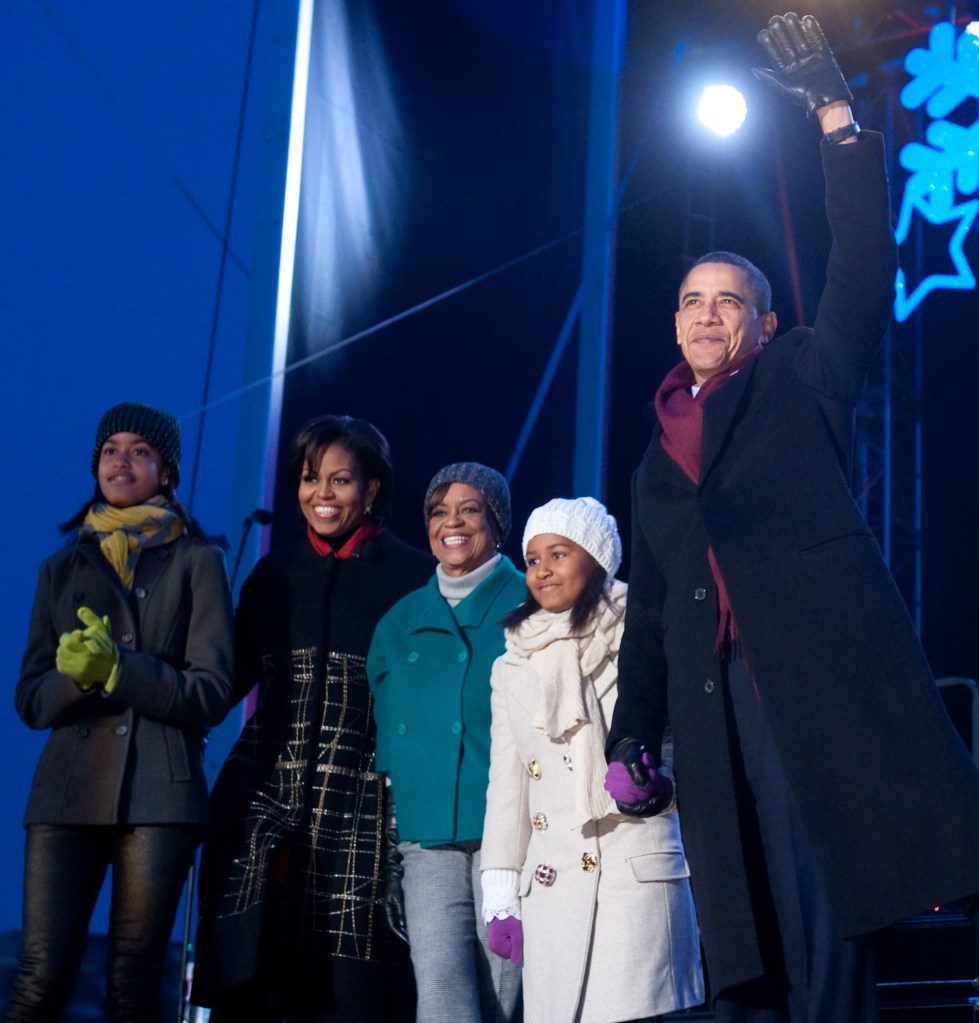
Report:
M483 915L524 964L525 1023L648 1020L704 999L669 759L667 808L636 819L605 790L626 586L615 519L548 501L524 531L528 599L492 674Z

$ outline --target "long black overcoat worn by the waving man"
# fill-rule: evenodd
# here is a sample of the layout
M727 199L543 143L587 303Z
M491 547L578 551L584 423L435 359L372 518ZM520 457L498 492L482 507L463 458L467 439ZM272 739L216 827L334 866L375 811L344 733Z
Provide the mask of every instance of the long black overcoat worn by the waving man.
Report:
M893 294L882 140L864 132L822 151L835 242L814 328L771 342L707 400L699 486L659 427L633 478L609 741L655 750L672 726L715 992L758 976L766 941L708 545L843 933L979 891L979 773L848 482L854 406Z

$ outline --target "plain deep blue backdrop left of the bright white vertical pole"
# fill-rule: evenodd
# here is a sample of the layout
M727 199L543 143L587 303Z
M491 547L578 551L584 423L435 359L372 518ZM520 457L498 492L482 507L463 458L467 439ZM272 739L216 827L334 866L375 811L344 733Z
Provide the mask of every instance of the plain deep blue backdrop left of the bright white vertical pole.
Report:
M214 394L241 384L271 7L256 33ZM38 566L91 495L101 412L133 399L181 415L189 479L252 11L240 0L0 5L0 930L19 926L19 818L45 739L14 716L13 685ZM237 433L235 403L209 414L193 507L233 543Z

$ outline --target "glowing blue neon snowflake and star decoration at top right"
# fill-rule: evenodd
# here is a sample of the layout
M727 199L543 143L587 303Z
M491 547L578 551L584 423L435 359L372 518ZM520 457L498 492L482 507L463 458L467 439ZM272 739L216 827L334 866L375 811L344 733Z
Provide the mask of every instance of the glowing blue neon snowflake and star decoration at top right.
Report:
M979 36L964 33L955 40L954 26L936 25L928 37L928 49L915 49L904 60L911 81L901 90L901 103L909 110L925 107L935 118L925 132L925 143L908 142L901 149L901 167L910 171L904 186L897 221L897 241L907 237L917 214L934 225L956 222L948 242L954 273L932 273L908 294L903 270L897 271L894 315L907 319L926 295L940 287L968 290L975 274L963 246L976 222L979 199L979 119L963 127L942 120L963 103L979 99ZM959 202L959 198L967 202Z

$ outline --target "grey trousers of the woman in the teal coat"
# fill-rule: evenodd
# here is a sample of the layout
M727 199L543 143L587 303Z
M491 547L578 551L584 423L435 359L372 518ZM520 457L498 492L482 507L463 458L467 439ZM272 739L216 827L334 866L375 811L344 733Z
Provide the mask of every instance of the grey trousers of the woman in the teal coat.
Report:
M516 1023L521 969L487 945L479 844L402 842L417 1023Z

